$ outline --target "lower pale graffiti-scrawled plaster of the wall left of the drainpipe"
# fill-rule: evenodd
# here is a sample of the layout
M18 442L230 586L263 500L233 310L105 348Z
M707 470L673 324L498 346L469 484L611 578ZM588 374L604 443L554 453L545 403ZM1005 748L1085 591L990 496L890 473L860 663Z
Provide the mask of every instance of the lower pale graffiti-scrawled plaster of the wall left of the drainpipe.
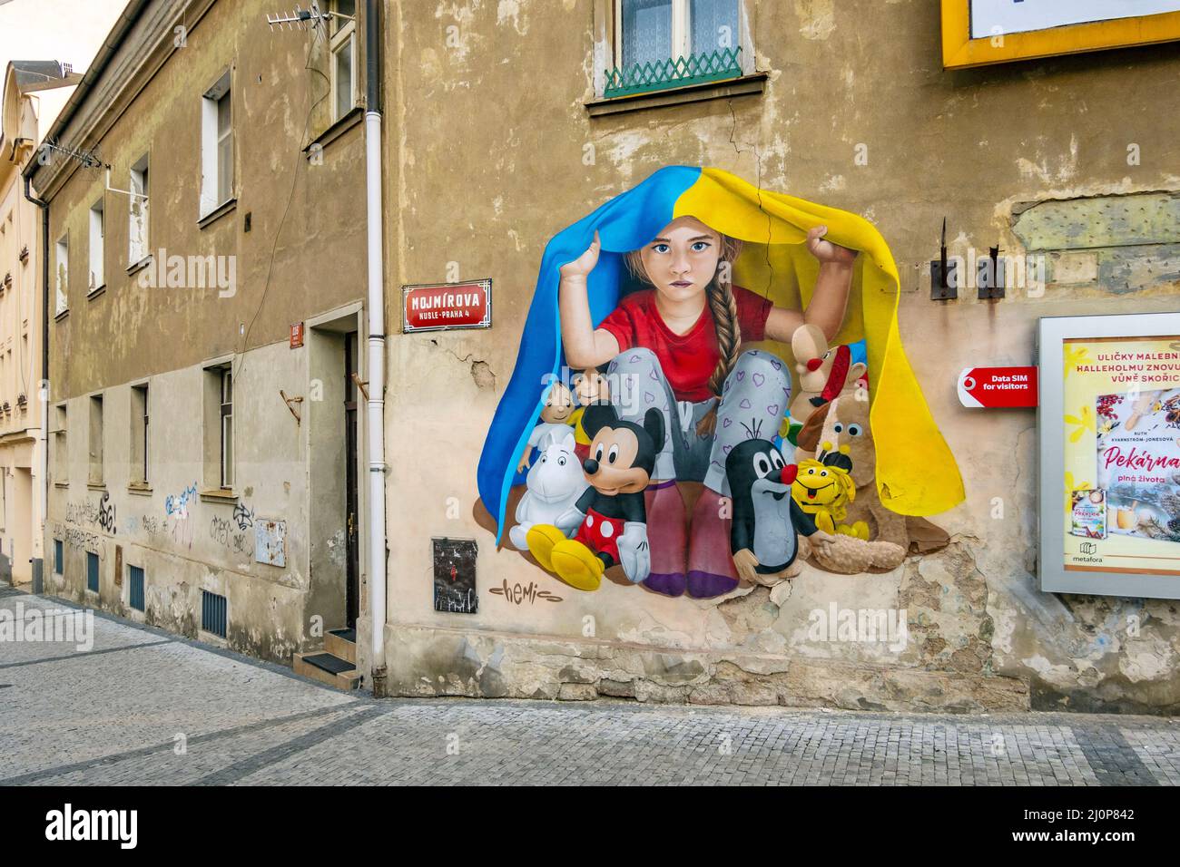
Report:
M201 493L205 376L195 366L148 380L149 454L160 459L151 462L146 491L130 486L137 469L130 453L131 386L103 390L100 488L87 484L93 444L81 420L90 412L90 396L67 401L68 475L54 473L48 523L51 550L53 539L64 544L64 574L54 571L47 586L79 603L190 637L197 637L201 626L201 590L209 590L228 598L229 646L286 661L312 643L308 617L323 615L307 605L314 586L308 567L308 440L277 398L280 388L291 394L307 381L306 353L276 343L243 359L234 406L235 500ZM321 408L308 406L308 410ZM264 519L286 524L286 566L255 559L255 532ZM86 551L98 553L101 564L97 596L86 590ZM130 607L129 565L145 571L143 613Z

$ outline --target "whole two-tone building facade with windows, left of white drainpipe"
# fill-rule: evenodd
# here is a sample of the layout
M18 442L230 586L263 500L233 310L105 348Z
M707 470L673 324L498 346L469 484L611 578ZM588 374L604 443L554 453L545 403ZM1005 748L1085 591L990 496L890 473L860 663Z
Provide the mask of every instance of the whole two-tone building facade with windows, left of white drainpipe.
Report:
M363 580L361 48L268 12L129 4L32 172L44 532L50 592L291 663Z

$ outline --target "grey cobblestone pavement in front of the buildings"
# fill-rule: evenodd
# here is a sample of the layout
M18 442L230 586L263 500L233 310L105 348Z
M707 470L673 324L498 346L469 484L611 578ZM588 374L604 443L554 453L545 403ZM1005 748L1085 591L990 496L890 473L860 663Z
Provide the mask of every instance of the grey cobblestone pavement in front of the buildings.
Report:
M1166 718L374 701L100 615L88 652L0 644L4 784L1178 782Z

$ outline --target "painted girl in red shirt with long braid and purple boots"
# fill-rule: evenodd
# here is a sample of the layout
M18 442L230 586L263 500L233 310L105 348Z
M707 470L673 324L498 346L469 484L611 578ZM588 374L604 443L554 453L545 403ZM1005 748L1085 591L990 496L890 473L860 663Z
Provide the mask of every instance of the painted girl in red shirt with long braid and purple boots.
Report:
M776 356L745 342L789 341L805 323L828 340L844 321L856 251L807 234L820 262L815 291L802 313L773 306L732 282L741 243L696 217L677 217L628 265L651 288L623 297L597 328L586 278L598 262L590 248L560 269L559 313L571 367L609 362L610 400L624 420L653 407L668 435L647 490L651 572L644 584L660 593L708 598L738 586L729 551L726 455L739 442L769 439L791 399L791 375ZM677 481L703 482L690 520ZM818 541L822 543L821 539Z

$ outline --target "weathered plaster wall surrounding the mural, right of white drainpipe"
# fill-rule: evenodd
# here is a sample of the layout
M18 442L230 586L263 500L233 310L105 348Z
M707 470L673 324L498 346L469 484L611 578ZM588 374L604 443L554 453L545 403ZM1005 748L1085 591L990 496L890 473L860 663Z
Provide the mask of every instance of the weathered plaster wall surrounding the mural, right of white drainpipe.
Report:
M1135 217L1142 225L1119 222L1113 236L1093 228L1087 199L1180 190L1180 118L1159 110L1174 101L1176 47L944 72L936 4L761 0L746 8L756 67L769 75L763 94L591 119L594 7L454 0L391 11L388 208L402 219L391 230L389 297L395 309L396 284L454 276L450 263L461 280L496 281L490 331L389 342L391 691L1180 708L1176 605L1041 593L1034 414L969 412L955 398L964 367L1029 363L1040 316L1174 309L1171 199L1152 199ZM1128 163L1132 145L1138 164ZM880 229L902 272L903 339L966 485L966 503L935 518L952 534L946 550L887 574L807 567L774 592L720 603L609 582L579 593L511 550L496 552L472 517L476 462L544 243L669 164L715 165ZM1028 209L1049 199L1066 203ZM1053 219L1037 217L1049 210L1090 216L1057 237ZM927 263L943 217L952 254L1028 243L1050 255L1043 295L931 302ZM1102 237L1087 241L1087 231ZM478 615L433 611L438 536L479 540ZM562 600L490 592L530 584ZM808 612L832 603L905 609L910 642L891 652L811 639Z

